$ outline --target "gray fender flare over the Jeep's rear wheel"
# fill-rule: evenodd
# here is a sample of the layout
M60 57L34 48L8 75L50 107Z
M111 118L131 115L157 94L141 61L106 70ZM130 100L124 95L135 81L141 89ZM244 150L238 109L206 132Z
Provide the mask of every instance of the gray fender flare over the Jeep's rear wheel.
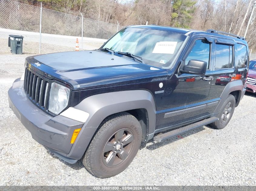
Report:
M214 113L219 112L219 110L221 109L225 100L227 99L228 95L232 91L239 91L238 98L237 98L237 103L236 103L236 106L237 106L239 101L243 98L245 90L246 89L244 88L243 82L241 80L235 80L235 81L229 82L221 93L221 96L220 96L221 101L219 102L218 106L216 107Z

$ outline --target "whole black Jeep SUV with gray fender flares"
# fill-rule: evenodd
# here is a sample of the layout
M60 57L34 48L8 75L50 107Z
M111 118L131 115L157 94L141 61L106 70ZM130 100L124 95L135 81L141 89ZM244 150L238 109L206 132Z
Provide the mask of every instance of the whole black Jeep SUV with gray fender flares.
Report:
M130 26L100 49L27 57L8 100L38 143L106 178L141 142L224 128L244 96L248 60L247 42L230 33Z

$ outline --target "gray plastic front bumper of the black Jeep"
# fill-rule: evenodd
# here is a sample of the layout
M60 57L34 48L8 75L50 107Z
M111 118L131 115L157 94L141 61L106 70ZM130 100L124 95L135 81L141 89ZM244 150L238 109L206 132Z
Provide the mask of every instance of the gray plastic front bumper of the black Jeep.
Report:
M16 79L8 91L9 106L31 133L32 138L48 147L56 156L74 164L77 160L66 157L73 144L71 136L84 123L61 115L52 117L35 106L23 91L23 81Z

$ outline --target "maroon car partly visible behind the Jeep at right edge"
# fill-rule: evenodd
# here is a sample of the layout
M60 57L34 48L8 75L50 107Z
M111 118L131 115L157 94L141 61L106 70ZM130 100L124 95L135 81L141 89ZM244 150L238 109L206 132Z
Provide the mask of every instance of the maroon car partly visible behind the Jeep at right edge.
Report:
M249 72L246 83L246 91L256 93L256 60L249 62Z

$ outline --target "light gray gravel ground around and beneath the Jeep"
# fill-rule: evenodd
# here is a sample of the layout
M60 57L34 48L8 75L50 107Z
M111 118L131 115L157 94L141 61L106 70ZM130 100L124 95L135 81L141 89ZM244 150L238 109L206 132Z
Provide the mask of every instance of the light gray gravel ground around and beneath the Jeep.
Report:
M0 53L0 185L256 185L256 95L246 93L224 129L208 126L162 143L141 144L130 166L98 179L32 139L8 106L24 55Z

